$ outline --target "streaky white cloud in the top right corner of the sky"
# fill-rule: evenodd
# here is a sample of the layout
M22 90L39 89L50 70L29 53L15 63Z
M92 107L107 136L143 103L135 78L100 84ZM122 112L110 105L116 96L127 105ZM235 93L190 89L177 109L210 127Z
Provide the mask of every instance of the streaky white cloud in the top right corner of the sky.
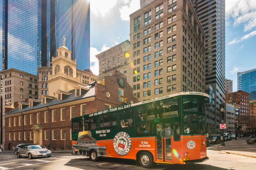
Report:
M255 0L226 0L226 20L233 18L233 26L244 25L244 31L256 27L256 3Z

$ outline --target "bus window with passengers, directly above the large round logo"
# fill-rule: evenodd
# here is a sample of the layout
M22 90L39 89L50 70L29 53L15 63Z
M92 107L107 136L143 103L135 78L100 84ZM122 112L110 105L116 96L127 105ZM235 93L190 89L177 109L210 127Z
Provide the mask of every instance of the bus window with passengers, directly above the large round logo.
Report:
M120 128L134 127L134 109L119 112Z

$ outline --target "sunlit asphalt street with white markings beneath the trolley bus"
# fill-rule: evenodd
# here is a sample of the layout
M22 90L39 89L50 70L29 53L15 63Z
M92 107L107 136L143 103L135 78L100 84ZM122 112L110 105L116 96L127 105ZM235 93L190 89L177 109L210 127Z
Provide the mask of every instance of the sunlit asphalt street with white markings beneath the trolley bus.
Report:
M228 141L232 142L232 141ZM226 143L228 143L226 142ZM169 170L251 170L256 167L256 158L227 154L216 150L215 146L207 147L207 156L209 160L187 165L164 165L156 164L151 169ZM101 158L98 162L92 162L88 157L71 155L69 153L52 153L50 158L28 159L27 157L17 158L13 152L3 152L0 154L0 169L19 169L19 170L45 170L45 169L61 169L61 170L98 170L98 169L114 169L114 170L139 170L144 169L134 160Z

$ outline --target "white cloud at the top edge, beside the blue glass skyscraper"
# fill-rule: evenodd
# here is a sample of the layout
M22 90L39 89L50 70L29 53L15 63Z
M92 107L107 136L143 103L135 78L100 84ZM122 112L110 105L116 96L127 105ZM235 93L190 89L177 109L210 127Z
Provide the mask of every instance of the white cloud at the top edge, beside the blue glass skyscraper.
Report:
M117 3L117 0L92 0L90 1L90 10L96 16L105 16L110 9L112 9Z

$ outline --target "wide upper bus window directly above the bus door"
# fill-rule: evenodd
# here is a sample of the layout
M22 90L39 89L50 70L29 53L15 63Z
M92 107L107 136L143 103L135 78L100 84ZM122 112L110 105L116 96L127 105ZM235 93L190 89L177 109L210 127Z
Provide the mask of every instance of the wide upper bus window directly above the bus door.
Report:
M171 118L179 116L178 99L163 101L157 104L157 118Z

